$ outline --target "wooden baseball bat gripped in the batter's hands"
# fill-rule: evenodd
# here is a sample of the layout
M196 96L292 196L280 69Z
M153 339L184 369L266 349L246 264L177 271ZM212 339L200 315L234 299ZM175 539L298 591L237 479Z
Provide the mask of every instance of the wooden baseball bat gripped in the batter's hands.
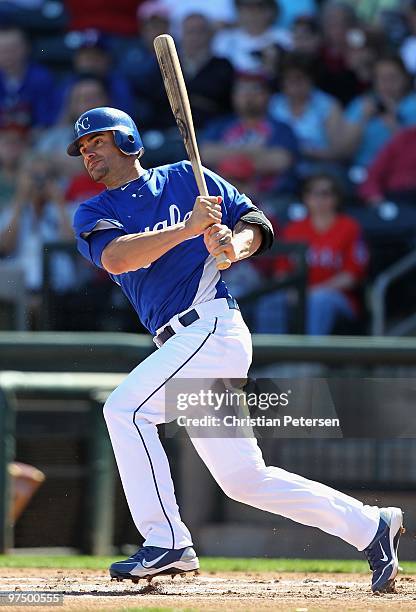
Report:
M186 90L175 42L169 34L161 34L155 38L153 44L169 103L181 132L189 161L192 164L199 194L201 196L208 196L209 193L202 170L198 144L196 142L191 105L189 104L188 92ZM221 253L216 257L216 264L218 270L226 270L230 267L231 261L224 253Z

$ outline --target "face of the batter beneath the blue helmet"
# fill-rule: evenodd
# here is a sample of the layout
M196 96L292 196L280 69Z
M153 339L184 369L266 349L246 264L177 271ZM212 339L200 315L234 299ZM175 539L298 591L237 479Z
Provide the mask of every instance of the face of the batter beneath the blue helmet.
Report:
M83 136L79 141L79 151L90 177L104 184L121 172L126 157L114 144L112 132Z

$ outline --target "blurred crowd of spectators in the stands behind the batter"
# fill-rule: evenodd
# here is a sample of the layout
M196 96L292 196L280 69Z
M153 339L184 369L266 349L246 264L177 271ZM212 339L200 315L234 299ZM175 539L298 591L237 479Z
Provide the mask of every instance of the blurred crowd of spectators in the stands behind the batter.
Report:
M280 240L308 247L306 332L362 323L371 248L354 210L415 203L416 1L5 0L0 266L24 269L30 327L41 325L47 274L56 304L93 313L56 314L52 327L132 329L102 272L83 264L80 273L68 250L48 270L43 251L73 243L77 204L103 188L65 152L82 112L131 114L145 167L185 156L153 51L165 32L177 42L204 164L263 208ZM291 265L254 258L226 276L244 297ZM290 332L293 299L290 290L259 298L254 331Z

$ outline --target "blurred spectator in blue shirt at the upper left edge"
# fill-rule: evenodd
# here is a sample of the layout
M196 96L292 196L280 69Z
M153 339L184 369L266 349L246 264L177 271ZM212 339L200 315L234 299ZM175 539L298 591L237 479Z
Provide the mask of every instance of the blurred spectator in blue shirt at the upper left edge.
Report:
M52 75L31 62L22 30L0 28L0 127L13 123L42 128L53 124L55 117Z

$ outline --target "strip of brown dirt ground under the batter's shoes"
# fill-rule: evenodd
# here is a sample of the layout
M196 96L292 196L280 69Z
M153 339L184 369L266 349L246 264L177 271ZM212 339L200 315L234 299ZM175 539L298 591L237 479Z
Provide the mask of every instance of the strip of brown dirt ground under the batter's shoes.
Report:
M416 576L396 580L396 593L373 595L369 575L202 573L146 581L110 581L106 572L2 568L1 591L63 593L64 610L127 610L129 608L204 610L416 610ZM1 599L1 598L0 598ZM1 604L0 604L1 605ZM4 604L3 604L4 605ZM61 610L61 607L32 607ZM22 607L7 605L7 610Z

